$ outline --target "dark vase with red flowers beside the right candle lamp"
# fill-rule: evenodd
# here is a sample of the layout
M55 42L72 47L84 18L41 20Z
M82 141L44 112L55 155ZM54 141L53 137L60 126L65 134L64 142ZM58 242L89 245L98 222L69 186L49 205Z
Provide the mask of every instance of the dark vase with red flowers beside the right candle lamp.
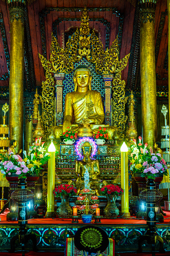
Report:
M108 184L101 188L101 195L107 198L107 206L104 209L104 214L107 218L116 219L119 215L115 201L117 196L121 196L122 194L123 189L115 184Z

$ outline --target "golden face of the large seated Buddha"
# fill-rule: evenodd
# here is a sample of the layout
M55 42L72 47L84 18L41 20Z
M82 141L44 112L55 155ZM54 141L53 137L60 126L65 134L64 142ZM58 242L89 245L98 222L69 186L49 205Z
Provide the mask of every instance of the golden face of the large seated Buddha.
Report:
M89 71L80 70L76 72L73 81L79 88L86 88L91 83L91 79L92 77L90 77Z

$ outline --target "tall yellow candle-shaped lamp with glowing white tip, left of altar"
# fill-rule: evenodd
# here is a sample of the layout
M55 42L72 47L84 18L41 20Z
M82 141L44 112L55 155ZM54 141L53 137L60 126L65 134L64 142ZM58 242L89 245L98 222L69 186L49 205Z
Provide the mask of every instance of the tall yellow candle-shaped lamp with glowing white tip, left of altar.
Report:
M54 216L54 194L53 190L55 188L55 146L53 144L53 139L55 136L51 134L49 136L51 139L51 144L49 146L48 152L50 153L50 159L48 161L48 181L47 181L47 212L46 218L51 218Z

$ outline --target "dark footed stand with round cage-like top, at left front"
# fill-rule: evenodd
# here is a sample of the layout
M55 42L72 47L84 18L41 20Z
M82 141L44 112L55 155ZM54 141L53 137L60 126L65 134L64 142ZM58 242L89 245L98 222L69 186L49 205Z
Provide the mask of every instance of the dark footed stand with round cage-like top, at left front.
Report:
M34 197L31 190L27 189L27 182L24 178L20 178L18 182L18 189L11 194L11 198L18 202L18 218L19 218L19 234L15 235L11 239L11 250L15 251L15 241L19 240L22 247L22 256L25 255L25 243L29 240L33 242L33 251L36 251L37 238L34 234L27 234L28 214L27 214L27 203Z

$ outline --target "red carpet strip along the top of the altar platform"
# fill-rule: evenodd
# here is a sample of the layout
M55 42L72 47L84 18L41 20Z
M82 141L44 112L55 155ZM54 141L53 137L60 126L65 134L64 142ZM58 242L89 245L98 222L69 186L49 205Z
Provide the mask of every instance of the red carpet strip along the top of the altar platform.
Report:
M170 212L164 211L166 213L166 216L164 216L164 222L160 224L169 224L170 222ZM18 221L7 221L7 214L8 212L5 212L4 214L0 215L2 224L17 224ZM31 219L28 220L28 224L71 224L72 219L60 219L60 218L42 218L42 219ZM94 222L94 220L93 220ZM79 223L82 223L82 220L79 220ZM101 219L101 224L146 224L145 220L138 220L135 217L132 217L130 219ZM158 223L157 223L158 224ZM169 253L170 255L170 253Z

